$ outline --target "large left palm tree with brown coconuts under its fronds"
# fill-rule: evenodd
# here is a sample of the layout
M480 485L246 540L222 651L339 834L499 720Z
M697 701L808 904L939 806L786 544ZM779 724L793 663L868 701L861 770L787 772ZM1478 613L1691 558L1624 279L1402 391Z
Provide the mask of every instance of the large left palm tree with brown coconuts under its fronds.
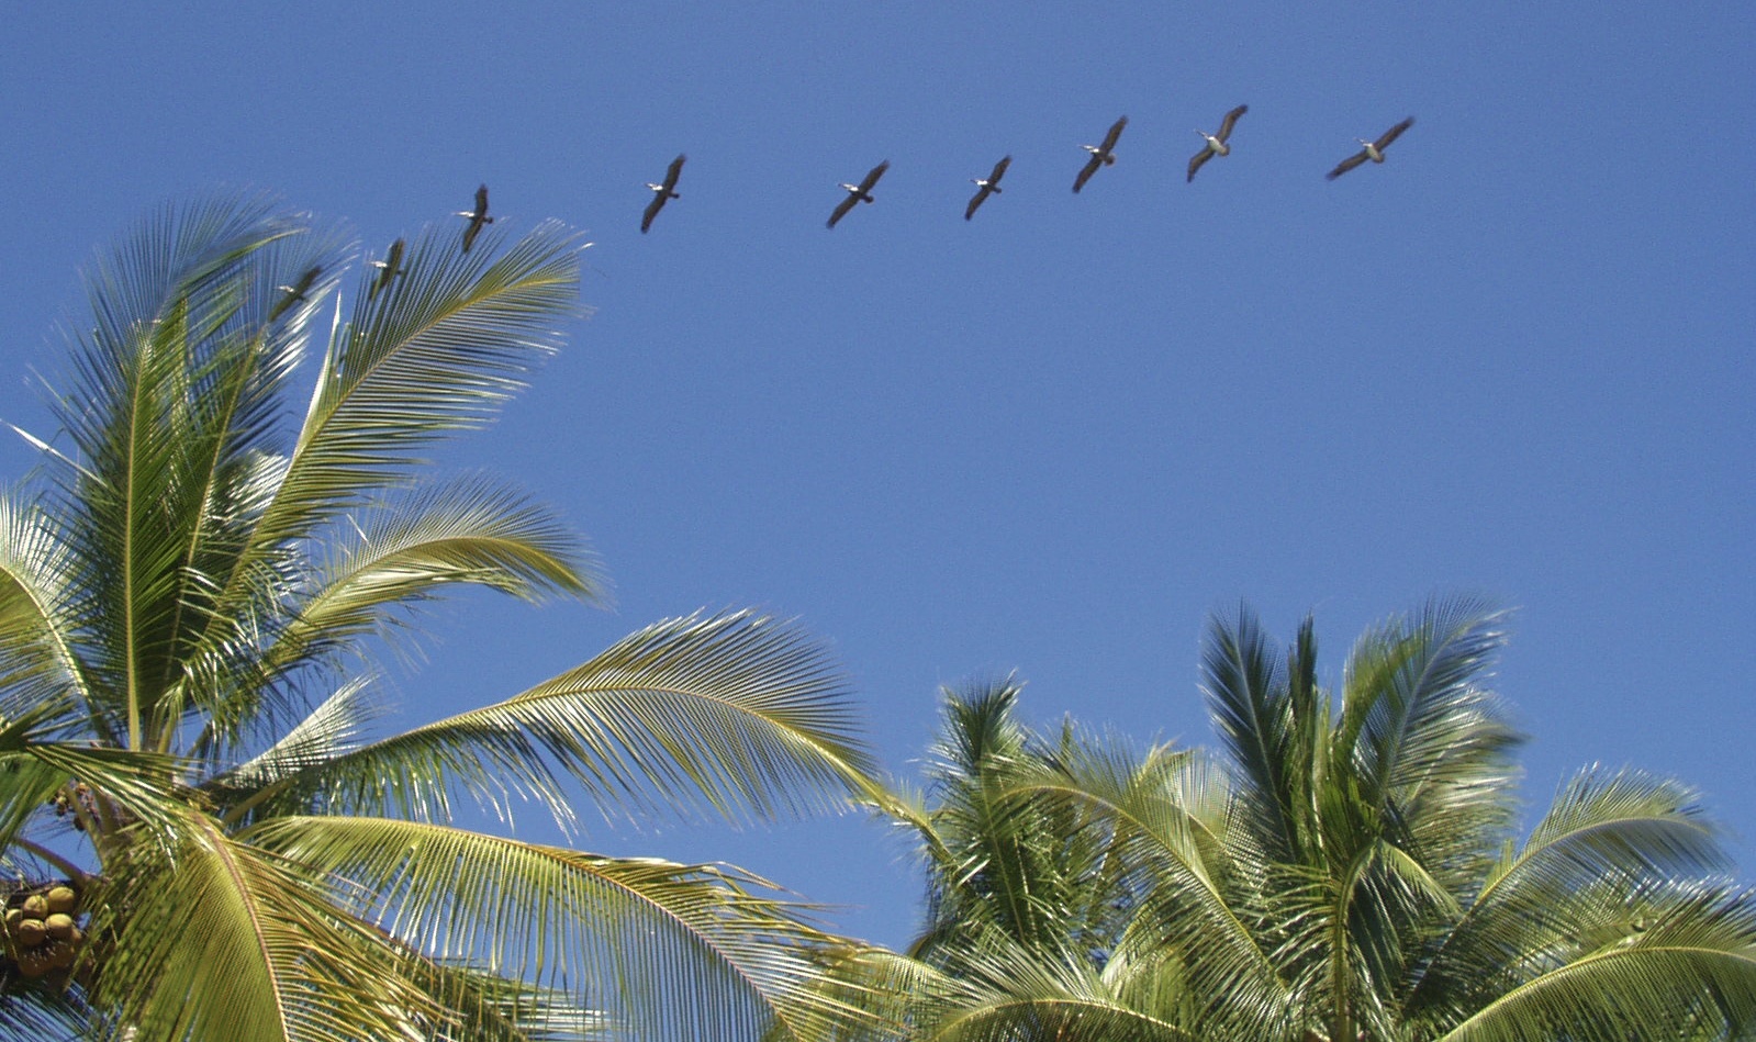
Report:
M402 733L376 654L465 583L602 597L578 536L418 452L576 311L576 235L346 242L262 199L167 209L88 274L63 436L0 496L0 1033L811 1038L839 951L729 866L451 824L453 801L760 819L869 766L794 626L650 626ZM316 357L307 355L318 348ZM309 402L288 409L300 374ZM572 835L572 833L569 833Z

